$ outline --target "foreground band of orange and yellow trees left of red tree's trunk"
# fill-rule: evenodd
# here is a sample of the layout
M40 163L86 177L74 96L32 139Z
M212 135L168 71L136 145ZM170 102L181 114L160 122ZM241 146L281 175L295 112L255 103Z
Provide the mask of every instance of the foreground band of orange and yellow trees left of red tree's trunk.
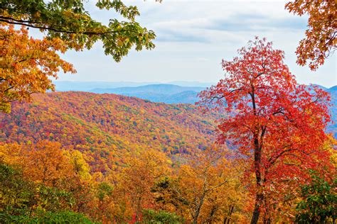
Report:
M237 176L229 177L232 175L229 173L230 164L225 162L225 159L218 160L220 157L215 156L217 150L214 152L205 150L200 157L186 157L190 160L188 164L174 168L171 159L163 152L146 150L138 155L125 155L125 164L118 169L109 170L105 174L90 172L90 177L83 179L69 157L58 156L60 152L63 152L60 155L68 155L72 150L59 147L58 143L46 140L28 145L0 145L0 160L6 162L4 164L6 172L0 173L2 184L0 195L3 201L0 210L4 219L22 218L29 223L31 220L31 222L48 220L54 218L53 215L56 215L56 218L63 218L58 214L71 211L83 213L91 220L102 223L135 223L148 219L154 223L171 223L172 220L182 222L182 218L190 222L193 220L191 214L196 213L193 209L196 208L200 213L200 220L209 219L208 215L213 220L218 220L222 219L223 215L228 217L224 212L227 212L228 205L235 206L237 211L240 211L242 206L238 202L242 200L240 196L242 193L235 193L237 183L240 181ZM53 149L56 155L50 155L52 150L49 149ZM36 159L31 156L32 152L38 152ZM210 158L215 160L211 159L208 162ZM53 163L54 159L58 164ZM196 159L196 162L193 162L193 159ZM38 161L44 161L44 165ZM84 163L86 166L85 161ZM67 172L63 169L53 169L62 167L60 164L69 166ZM41 181L43 171L48 172L50 177L57 177L57 181L49 178L46 179L48 181ZM33 174L40 174L42 177L37 178ZM167 180L176 180L174 181L176 185L163 187ZM228 180L231 183L228 183ZM203 186L208 189L203 189ZM169 189L171 191L177 189L178 195L166 194ZM228 192L226 194L225 189ZM183 198L183 201L177 196ZM203 203L194 202L199 197ZM144 209L151 212L144 213ZM177 213L179 214L175 215ZM232 215L231 220L240 220L235 216L236 212L229 215Z

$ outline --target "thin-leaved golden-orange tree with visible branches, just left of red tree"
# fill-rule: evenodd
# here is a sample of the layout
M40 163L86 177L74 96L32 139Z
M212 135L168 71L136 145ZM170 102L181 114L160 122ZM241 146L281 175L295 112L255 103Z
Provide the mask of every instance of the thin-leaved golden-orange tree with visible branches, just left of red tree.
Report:
M239 191L233 189L239 175L225 158L226 153L215 147L208 148L178 171L193 223L232 220L233 208L240 200Z

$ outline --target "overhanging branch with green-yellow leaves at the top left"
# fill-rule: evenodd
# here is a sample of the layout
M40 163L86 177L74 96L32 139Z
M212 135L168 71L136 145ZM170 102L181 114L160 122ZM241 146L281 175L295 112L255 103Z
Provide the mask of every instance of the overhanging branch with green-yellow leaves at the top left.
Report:
M102 41L106 55L119 61L135 46L152 49L155 38L152 30L143 28L135 21L139 16L136 6L126 6L122 1L97 1L100 10L114 10L127 21L109 19L109 23L95 21L86 9L85 1L1 0L0 21L4 23L38 28L48 32L49 40L63 40L67 49L90 49Z

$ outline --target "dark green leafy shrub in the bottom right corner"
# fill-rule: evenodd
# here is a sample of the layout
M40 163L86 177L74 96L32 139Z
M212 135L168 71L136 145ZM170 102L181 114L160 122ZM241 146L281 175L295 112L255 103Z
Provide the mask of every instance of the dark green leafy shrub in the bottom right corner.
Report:
M337 179L327 181L311 171L311 182L301 187L301 201L297 204L298 223L335 223Z

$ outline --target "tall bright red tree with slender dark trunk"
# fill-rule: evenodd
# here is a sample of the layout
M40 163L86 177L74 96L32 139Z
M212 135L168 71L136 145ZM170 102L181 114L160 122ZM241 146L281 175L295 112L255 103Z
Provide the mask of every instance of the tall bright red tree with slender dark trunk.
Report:
M301 179L318 160L328 164L328 153L317 150L326 140L329 121L326 92L299 85L284 65L284 52L265 39L250 41L239 57L223 60L225 77L200 93L199 104L222 109L218 142L230 142L252 164L255 208L251 223L261 211L269 219L267 192L287 179ZM248 177L250 177L248 176Z

